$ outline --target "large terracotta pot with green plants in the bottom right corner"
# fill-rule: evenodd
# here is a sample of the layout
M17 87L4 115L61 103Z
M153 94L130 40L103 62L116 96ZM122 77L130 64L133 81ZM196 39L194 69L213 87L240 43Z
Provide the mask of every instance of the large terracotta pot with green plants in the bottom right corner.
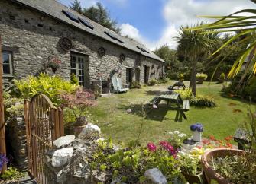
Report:
M206 179L225 183L255 183L256 181L256 114L248 110L245 128L250 135L246 151L219 148L201 157Z

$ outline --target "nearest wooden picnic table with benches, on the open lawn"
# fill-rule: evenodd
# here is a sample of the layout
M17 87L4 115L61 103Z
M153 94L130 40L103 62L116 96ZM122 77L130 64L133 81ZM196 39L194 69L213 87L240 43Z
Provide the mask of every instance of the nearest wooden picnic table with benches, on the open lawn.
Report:
M170 106L170 104L176 105L175 107L170 106L170 109L176 110L176 116L175 116L175 121L177 122L178 119L180 122L182 121L182 117L184 119L186 118L186 115L184 112L190 110L190 101L189 100L182 100L180 97L180 94L169 91L166 94L162 94L158 97L154 97L149 104L152 104L153 108L157 108L158 104L160 101L167 101L167 106Z

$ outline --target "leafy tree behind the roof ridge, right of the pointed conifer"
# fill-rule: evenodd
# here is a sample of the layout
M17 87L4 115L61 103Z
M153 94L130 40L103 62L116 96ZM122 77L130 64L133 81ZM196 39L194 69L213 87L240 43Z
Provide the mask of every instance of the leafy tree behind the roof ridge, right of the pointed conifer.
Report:
M96 7L84 8L83 14L89 17L92 21L101 24L104 27L119 32L120 29L117 27L117 22L113 21L109 15L109 11L103 7L103 5L97 2Z

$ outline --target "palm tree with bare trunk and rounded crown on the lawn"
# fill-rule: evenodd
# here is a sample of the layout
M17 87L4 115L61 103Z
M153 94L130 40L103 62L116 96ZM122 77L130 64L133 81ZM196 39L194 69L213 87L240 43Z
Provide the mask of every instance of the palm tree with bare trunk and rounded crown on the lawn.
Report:
M203 25L197 24L198 26ZM202 30L189 30L189 27L180 27L179 33L175 36L177 40L177 51L188 58L192 62L192 72L190 79L190 87L192 87L193 95L196 96L196 64L200 57L206 56L212 51L214 34L202 34ZM215 34L215 36L217 36Z

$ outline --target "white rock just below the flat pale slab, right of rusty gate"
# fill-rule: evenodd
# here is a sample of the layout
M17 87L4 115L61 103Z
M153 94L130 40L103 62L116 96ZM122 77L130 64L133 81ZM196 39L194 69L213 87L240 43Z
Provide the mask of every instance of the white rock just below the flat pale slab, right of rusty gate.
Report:
M62 148L60 150L54 151L51 164L53 167L62 167L73 156L73 148Z

